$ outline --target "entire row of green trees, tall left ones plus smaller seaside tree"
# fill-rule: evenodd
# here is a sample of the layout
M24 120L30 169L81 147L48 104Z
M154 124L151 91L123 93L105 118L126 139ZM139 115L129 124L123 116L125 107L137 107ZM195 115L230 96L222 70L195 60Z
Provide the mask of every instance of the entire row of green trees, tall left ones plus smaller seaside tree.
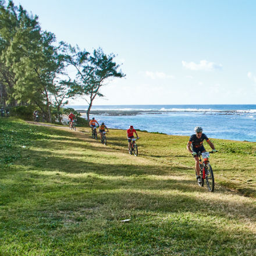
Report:
M41 29L38 16L0 0L0 104L35 105L51 122L52 109L60 113L69 98L85 97L89 119L94 99L103 96L100 88L110 78L125 76L114 58L101 48L90 53L58 45L53 33ZM73 80L69 65L77 70Z

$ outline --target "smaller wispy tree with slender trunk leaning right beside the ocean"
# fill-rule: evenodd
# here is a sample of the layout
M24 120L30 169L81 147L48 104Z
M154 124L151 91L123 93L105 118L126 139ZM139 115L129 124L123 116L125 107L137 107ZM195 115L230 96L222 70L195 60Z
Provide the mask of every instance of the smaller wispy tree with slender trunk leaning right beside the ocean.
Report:
M119 70L113 59L114 54L106 55L102 48L95 49L90 54L85 49L80 51L79 47L72 47L64 42L62 44L63 59L77 70L76 81L70 85L69 95L71 97L81 96L88 103L87 120L90 120L90 111L96 97L103 97L100 89L106 82L114 77L125 77Z

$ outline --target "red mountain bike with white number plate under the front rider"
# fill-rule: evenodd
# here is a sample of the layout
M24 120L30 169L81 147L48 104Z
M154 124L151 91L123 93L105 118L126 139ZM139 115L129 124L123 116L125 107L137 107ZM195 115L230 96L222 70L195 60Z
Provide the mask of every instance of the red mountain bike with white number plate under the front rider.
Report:
M211 152L197 153L197 157L199 158L199 167L200 167L200 179L198 179L198 185L200 187L204 187L204 180L205 180L208 190L210 192L214 192L214 172L212 171L212 167L209 163L209 154L212 154L212 153L214 152L211 151ZM197 175L196 170L195 170L195 175Z

